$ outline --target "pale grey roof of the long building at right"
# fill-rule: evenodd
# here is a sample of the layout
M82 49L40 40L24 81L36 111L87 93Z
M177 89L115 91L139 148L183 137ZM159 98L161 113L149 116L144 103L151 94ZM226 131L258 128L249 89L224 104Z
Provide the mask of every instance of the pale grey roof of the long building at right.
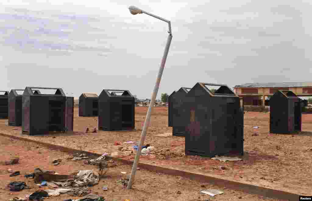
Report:
M267 88L267 87L312 87L312 82L268 82L268 83L246 83L236 85L234 88L253 87L253 88Z

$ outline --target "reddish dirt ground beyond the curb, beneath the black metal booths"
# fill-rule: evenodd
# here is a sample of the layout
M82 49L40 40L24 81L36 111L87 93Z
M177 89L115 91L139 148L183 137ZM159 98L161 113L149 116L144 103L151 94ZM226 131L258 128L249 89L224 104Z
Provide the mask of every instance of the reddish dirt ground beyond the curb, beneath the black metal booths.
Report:
M78 117L75 108L74 133L55 133L27 136L21 134L21 127L6 126L7 120L0 120L0 132L29 138L65 147L81 148L102 154L118 152L120 158L133 160L135 154L118 151L118 147L129 147L126 141L140 139L147 107L136 107L135 130L99 131L85 133L86 127L96 127L96 117ZM221 162L205 157L184 156L183 137L159 137L155 134L172 133L168 127L168 108L155 107L145 144L156 148L156 153L141 157L140 162L189 171L193 173L259 185L292 193L309 195L312 192L312 115L302 115L302 133L294 135L269 134L269 113L246 112L244 116L243 161ZM252 126L260 126L259 136L251 136ZM16 130L13 130L16 129ZM55 138L52 138L55 137ZM121 145L115 146L119 141ZM168 149L169 151L166 151ZM220 170L219 166L226 166Z

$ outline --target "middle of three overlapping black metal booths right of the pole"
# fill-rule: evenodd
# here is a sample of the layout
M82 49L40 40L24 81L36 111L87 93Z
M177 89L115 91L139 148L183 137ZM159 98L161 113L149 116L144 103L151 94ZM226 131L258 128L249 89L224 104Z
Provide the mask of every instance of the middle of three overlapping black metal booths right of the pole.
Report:
M181 121L183 118L183 114L181 112L183 100L185 99L188 91L192 88L181 87L176 93L171 97L171 113L172 113L172 121ZM174 123L173 123L174 125ZM185 137L185 126L173 126L172 128L173 136L183 136Z

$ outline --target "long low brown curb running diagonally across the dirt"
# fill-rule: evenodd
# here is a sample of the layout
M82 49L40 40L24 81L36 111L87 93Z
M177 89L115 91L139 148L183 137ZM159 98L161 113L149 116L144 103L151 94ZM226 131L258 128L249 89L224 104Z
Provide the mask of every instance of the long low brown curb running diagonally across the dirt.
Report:
M5 133L0 133L0 136L9 137L9 138L22 140L22 141L26 141L26 142L41 144L41 145L48 147L50 149L54 149L54 150L58 150L58 151L62 151L62 152L67 152L70 154L85 153L85 154L95 156L95 157L101 156L101 154L97 154L97 153L80 151L78 149L62 147L59 145L44 143L44 142L31 140L31 139L27 139L27 138L22 138L22 137L18 137L18 136L13 136L13 135L5 134ZM126 164L126 165L132 165L133 164L133 161L124 160L121 158L116 158L116 157L111 157L111 156L105 156L105 157L110 159L110 160L112 159L115 161L119 161L119 162ZM224 187L229 188L229 189L240 190L240 191L243 191L246 193L262 195L262 196L269 197L269 198L297 201L299 199L299 196L302 196L300 194L289 193L286 191L269 189L269 188L265 188L265 187L261 187L261 186L244 184L241 182L224 180L224 179L215 178L215 177L211 177L211 176L195 174L195 173L191 173L191 172L180 171L180 170L164 168L164 167L159 167L159 166L153 166L153 165L144 164L144 163L139 163L139 168L158 172L158 173L163 173L163 174L167 174L167 175L182 176L182 177L186 177L188 179L197 180L200 182L206 182L206 183L210 183L210 184L218 185L218 186L224 186Z

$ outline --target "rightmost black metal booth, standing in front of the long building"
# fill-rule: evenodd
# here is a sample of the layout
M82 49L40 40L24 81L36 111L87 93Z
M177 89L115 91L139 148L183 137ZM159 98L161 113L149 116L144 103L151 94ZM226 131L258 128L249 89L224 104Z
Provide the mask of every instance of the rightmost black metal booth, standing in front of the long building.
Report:
M270 133L301 131L301 99L292 91L277 91L270 99Z

